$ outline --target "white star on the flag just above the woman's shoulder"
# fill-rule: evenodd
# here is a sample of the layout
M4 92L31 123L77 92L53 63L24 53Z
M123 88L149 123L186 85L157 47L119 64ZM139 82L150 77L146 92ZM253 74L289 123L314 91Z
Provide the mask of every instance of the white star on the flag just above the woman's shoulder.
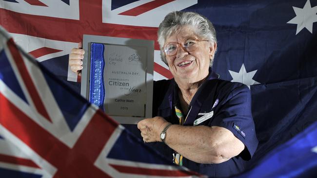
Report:
M231 82L243 83L244 85L248 86L250 89L251 85L260 84L257 81L253 80L253 76L256 74L257 71L258 70L247 72L245 70L244 64L242 64L239 72L229 70L229 72L233 78L233 80L231 80Z

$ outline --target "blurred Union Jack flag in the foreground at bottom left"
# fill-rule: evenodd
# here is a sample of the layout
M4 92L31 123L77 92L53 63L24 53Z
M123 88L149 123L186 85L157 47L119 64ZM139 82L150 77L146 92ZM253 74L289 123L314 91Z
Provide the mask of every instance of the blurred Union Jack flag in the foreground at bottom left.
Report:
M1 178L197 176L65 87L1 27L0 64Z

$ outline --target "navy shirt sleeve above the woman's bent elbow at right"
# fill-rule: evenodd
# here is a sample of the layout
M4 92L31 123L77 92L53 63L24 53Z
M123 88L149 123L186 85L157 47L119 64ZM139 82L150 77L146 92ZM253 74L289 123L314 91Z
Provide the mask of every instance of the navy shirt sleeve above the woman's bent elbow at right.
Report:
M251 113L251 92L246 85L233 84L231 89L222 89L225 94L223 101L219 101L217 110L215 108L213 125L227 128L243 142L245 149L238 156L243 160L250 160L258 146Z

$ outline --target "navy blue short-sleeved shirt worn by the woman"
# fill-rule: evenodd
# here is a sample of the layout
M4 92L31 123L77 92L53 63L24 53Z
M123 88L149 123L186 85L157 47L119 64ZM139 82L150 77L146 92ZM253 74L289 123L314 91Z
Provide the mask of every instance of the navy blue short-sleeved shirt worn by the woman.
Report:
M174 79L155 82L153 116L161 116L172 124L178 124L175 105L178 105L178 86ZM218 75L210 69L188 110L185 126L227 128L243 142L245 149L238 156L219 164L200 164L183 158L183 166L209 177L228 177L242 172L246 160L252 158L258 146L251 114L250 89L241 83L219 80ZM174 150L162 142L153 145L167 158L173 159Z

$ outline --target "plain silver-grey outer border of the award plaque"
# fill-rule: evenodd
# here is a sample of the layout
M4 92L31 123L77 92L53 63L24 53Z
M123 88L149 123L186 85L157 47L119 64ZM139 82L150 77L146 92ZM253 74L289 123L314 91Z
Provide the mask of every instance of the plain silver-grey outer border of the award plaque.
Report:
M146 67L145 67L145 83L146 86L146 105L145 117L129 117L129 116L116 116L107 113L111 118L120 124L137 124L145 118L152 117L152 102L153 102L153 71L154 71L154 41L144 39L121 38L111 36L94 36L83 35L82 47L85 50L84 59L82 60L83 69L81 71L81 87L80 94L89 101L89 87L90 87L90 44L102 43L105 45L119 45L126 47L142 47L146 48ZM105 88L104 88L105 89Z

